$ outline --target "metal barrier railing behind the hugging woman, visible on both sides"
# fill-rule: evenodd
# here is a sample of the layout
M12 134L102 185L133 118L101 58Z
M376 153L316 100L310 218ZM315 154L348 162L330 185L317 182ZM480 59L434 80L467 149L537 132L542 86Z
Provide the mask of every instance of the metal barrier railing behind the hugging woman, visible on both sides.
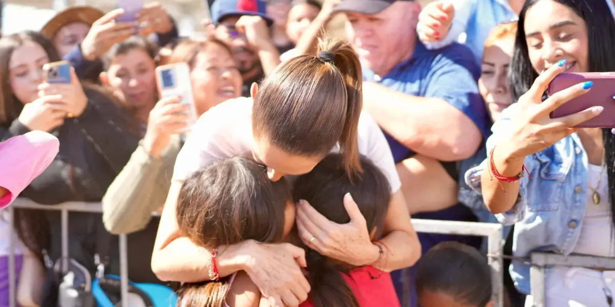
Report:
M10 225L14 229L13 209L40 209L61 212L62 223L62 259L68 259L68 212L93 212L102 213L100 203L80 203L71 202L52 206L34 203L31 200L17 198L12 206L9 207ZM154 215L159 215L157 212ZM475 223L475 222L456 222L444 220L423 220L412 219L412 224L417 232L440 233L448 235L467 235L467 236L486 236L488 239L488 263L492 269L491 278L493 279L493 300L494 307L503 306L503 278L502 278L502 255L504 254L504 244L502 240L502 225L496 223ZM9 254L9 306L16 307L15 298L15 241L14 236L10 239ZM122 307L128 307L128 251L126 235L119 236L119 257L120 257L120 278ZM63 263L64 264L64 263ZM64 268L68 266L63 265Z

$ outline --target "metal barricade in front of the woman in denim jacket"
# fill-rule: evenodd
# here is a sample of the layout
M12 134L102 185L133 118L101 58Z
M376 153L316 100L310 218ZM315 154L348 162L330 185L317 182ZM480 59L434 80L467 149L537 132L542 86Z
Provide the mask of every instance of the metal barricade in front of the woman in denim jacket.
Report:
M534 307L544 307L545 303L545 268L550 265L559 266L582 266L584 268L602 268L615 270L615 258L582 256L582 255L558 255L544 252L534 252L531 255L530 287L534 300Z

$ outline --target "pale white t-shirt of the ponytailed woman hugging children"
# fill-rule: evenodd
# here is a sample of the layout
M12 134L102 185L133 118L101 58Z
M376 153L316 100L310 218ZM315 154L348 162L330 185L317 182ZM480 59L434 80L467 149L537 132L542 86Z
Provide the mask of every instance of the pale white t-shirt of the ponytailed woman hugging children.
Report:
M371 115L359 119L359 153L369 158L389 179L391 193L401 187L393 155L384 134ZM182 147L173 171L173 180L186 180L197 169L217 159L252 151L252 98L236 98L218 104L201 115ZM335 146L331 152L339 152Z

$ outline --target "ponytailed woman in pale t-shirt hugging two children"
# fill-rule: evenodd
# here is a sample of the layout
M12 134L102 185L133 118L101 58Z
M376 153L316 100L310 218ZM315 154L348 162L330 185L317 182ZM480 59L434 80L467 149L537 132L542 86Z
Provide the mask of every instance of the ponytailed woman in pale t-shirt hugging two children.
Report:
M253 84L251 98L232 99L205 112L175 163L152 256L154 273L165 281L205 281L214 263L220 276L247 272L275 306L306 300L310 286L300 268L306 265L303 249L244 240L217 246L213 257L212 249L198 247L179 231L175 214L183 181L213 160L245 153L267 167L271 181L309 173L330 152L341 153L346 176L360 176L359 154L365 155L391 186L383 229L387 257L371 242L364 221L333 223L306 202L298 206L298 217L306 221L298 222L301 241L355 266L392 271L413 265L420 255L418 238L386 138L375 120L361 112L361 91L356 53L345 42L321 41L316 55L293 58L260 85ZM344 204L357 208L350 198Z

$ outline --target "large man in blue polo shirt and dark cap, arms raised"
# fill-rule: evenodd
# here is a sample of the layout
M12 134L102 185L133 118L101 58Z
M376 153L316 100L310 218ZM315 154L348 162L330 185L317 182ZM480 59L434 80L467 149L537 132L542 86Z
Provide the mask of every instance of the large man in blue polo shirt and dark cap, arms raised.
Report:
M362 61L363 108L386 134L411 214L475 221L457 200L456 161L471 157L488 135L480 71L467 47L433 51L418 40L420 10L417 2L395 0L343 0L335 8L346 14L348 39ZM423 252L450 240L480 246L480 238L419 233L419 239ZM406 290L414 293L410 273ZM403 298L400 275L394 282Z

